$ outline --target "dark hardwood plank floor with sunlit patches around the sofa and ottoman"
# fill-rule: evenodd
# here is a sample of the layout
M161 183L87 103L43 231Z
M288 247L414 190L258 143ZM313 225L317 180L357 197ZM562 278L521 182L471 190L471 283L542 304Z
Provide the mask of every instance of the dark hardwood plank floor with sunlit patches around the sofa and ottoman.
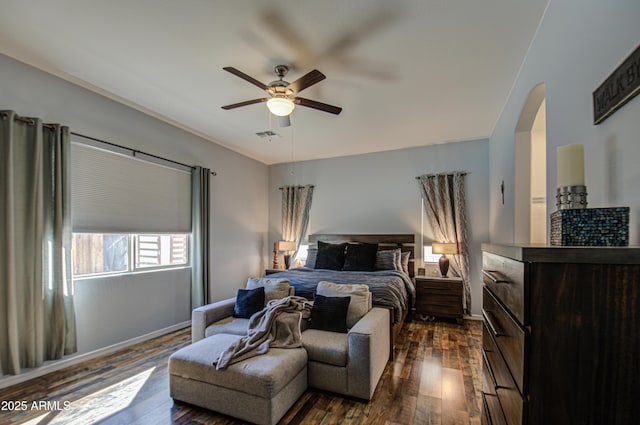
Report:
M407 322L373 399L309 389L281 424L480 424L480 321ZM0 424L241 424L175 402L167 359L186 328L0 390Z

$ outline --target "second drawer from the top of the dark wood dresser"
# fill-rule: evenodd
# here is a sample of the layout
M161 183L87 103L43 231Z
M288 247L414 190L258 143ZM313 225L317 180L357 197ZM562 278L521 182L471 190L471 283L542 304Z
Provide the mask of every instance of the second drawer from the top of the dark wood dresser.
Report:
M524 375L524 355L525 344L528 343L527 334L507 314L486 287L482 291L482 315L485 324L483 346L487 345L485 350L499 349L499 353L496 354L504 358L517 387L526 394L528 388Z

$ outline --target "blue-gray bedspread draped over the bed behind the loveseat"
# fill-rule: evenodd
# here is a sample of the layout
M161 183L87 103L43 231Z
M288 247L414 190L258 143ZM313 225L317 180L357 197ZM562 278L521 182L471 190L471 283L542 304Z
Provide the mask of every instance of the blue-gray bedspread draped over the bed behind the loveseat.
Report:
M391 307L394 323L402 320L403 313L411 308L415 299L413 282L405 273L395 270L374 272L347 272L299 267L270 274L270 278L287 278L295 287L296 295L313 299L318 282L359 283L369 286L373 305Z

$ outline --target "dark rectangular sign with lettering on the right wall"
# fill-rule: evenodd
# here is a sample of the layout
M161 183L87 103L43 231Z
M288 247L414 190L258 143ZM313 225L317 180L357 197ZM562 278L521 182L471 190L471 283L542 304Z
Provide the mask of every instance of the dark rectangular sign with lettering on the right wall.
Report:
M593 124L600 124L640 93L640 46L593 92Z

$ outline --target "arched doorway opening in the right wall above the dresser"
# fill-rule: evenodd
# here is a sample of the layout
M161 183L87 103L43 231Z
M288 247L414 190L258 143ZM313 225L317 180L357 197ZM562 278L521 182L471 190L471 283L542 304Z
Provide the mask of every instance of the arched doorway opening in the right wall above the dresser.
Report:
M547 119L545 86L525 102L515 134L516 243L547 242Z

